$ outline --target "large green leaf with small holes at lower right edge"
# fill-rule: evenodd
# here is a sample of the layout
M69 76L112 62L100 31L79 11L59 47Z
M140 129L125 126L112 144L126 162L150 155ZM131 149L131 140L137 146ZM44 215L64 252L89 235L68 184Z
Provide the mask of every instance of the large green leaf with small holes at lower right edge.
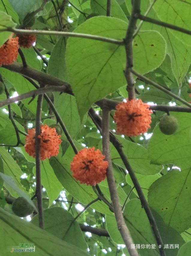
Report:
M172 170L156 180L148 192L149 205L160 214L167 226L178 232L190 227L190 183L190 168L181 172Z

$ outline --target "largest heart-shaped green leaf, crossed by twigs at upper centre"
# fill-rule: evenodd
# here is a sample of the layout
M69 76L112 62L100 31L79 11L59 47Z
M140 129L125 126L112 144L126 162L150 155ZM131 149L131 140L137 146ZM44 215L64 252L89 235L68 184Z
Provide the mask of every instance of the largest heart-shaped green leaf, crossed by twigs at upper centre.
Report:
M122 40L126 30L127 23L124 21L100 16L82 23L75 32ZM136 70L147 73L158 67L165 57L165 48L165 41L159 33L139 33L133 43ZM69 38L66 61L81 118L92 103L126 84L123 74L126 63L123 46L90 39Z

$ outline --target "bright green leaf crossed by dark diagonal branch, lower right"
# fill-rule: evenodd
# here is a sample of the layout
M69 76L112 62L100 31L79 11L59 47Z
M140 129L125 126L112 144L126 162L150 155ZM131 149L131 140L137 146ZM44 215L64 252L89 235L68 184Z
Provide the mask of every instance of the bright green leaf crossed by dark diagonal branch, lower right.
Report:
M151 184L157 180L158 178L160 178L159 174L155 174L155 175L142 175L139 173L135 173L136 178L139 182L139 185L142 188L142 192L145 195L145 198L147 199L147 195L148 195L148 188L151 186ZM134 184L130 178L129 173L127 173L126 175L126 181L127 183L133 188ZM133 192L138 196L136 189L133 189Z

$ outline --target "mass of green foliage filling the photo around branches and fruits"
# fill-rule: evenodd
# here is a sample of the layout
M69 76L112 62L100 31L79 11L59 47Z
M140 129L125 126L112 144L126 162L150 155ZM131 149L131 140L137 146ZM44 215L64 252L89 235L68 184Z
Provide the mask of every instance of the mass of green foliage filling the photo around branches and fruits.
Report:
M148 10L151 2L141 1L142 15ZM3 22L7 22L5 27L18 27L26 14L35 11L42 3L42 0L1 0L0 11L9 14L12 20L5 21L2 15L0 30L4 28ZM54 3L64 31L117 40L125 37L132 8L130 0L112 0L111 17L106 17L106 0L70 0L70 4L69 1L55 0ZM191 0L157 0L148 17L191 30L190 5ZM87 14L91 13L100 16L86 20ZM137 26L139 23L140 20L137 21ZM48 2L43 10L36 14L32 29L60 31L52 2ZM0 44L2 45L10 35L11 32L1 32ZM124 154L136 173L163 243L179 244L179 250L166 249L167 256L187 256L191 250L191 111L188 110L186 113L179 112L178 108L176 111L173 110L173 106L183 106L181 99L190 102L190 42L190 35L149 22L142 24L133 41L134 69L168 89L180 100L135 77L136 98L154 106L168 105L169 111L173 111L170 114L177 117L179 122L175 134L166 136L160 132L158 122L165 114L160 110L160 106L151 115L152 123L148 132L136 137L116 135L114 110L110 115L110 129L121 142ZM36 48L44 59L40 58L37 51L35 52ZM127 82L123 72L126 65L124 46L86 38L38 34L35 47L22 48L22 52L30 68L70 83L75 97L59 92L49 92L47 95L63 120L76 148L80 150L83 147L94 146L102 151L102 136L87 113L93 106L96 113L102 116L99 104L95 102L103 98L113 101L128 98ZM20 56L16 62L22 63ZM0 68L11 96L15 96L16 92L21 95L35 89L26 77L13 71L11 67ZM6 99L5 93L0 99ZM30 99L11 104L16 126L25 133L35 126L37 99L28 105ZM42 122L47 125L57 122L45 98ZM3 175L0 177L1 256L10 255L6 246L17 246L28 241L36 245L36 255L62 255L64 251L64 255L71 256L128 256L114 214L103 201L92 204L77 221L73 222L73 218L96 199L97 195L91 186L79 184L73 179L70 162L75 153L64 133L61 139L63 142L58 156L41 162L44 223L47 232L37 227L37 215L31 216L32 219L26 217L25 220L14 216L11 205L6 200L7 196L17 198L21 193L30 198L34 196L35 159L28 156L21 144L16 147L1 145L0 172L12 177L12 181ZM20 140L25 143L24 134L20 134ZM17 143L7 105L0 109L0 143ZM134 185L116 148L111 144L110 149L117 191L123 206ZM13 182L19 190L14 187ZM106 199L111 202L106 180L99 186ZM33 202L37 206L36 199ZM134 244L156 244L156 249L138 249L139 255L160 255L148 217L135 188L128 197L123 214ZM86 231L87 227L93 227L92 233ZM82 233L82 230L86 232ZM105 230L109 235L99 236L94 234L93 230ZM99 232L98 234L101 234Z

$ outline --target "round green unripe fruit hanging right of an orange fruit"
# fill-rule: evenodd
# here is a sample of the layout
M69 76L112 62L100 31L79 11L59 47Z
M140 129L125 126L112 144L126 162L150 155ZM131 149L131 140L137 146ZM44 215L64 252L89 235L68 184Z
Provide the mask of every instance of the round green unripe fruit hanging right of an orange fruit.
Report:
M178 120L176 117L165 115L159 122L159 128L166 135L174 134L178 129Z

